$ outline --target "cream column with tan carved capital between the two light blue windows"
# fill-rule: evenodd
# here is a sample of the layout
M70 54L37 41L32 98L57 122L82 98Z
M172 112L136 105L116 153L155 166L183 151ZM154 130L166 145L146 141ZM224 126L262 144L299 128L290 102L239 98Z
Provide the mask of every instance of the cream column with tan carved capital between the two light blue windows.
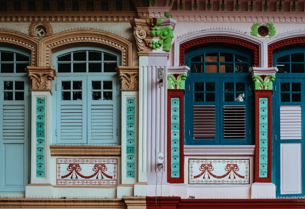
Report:
M27 66L32 80L31 88L31 183L26 187L26 197L50 197L52 194L50 151L52 80L54 67ZM38 189L37 186L43 187Z

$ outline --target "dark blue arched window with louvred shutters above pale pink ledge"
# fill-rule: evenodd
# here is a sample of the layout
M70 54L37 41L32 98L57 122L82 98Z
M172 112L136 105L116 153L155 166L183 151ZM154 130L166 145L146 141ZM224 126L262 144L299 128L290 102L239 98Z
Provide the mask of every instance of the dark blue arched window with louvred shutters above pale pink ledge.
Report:
M251 144L251 53L203 48L185 55L186 144Z

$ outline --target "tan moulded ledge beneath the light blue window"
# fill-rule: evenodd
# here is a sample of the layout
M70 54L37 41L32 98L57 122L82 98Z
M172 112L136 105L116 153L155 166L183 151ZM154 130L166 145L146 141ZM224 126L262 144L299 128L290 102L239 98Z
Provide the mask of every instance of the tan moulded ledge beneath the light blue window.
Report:
M121 146L50 145L51 156L121 156Z

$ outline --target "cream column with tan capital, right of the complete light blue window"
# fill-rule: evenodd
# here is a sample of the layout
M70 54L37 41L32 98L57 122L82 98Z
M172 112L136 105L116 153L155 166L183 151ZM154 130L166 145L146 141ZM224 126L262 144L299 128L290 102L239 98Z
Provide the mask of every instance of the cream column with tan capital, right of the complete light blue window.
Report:
M138 164L142 162L138 147L139 67L118 66L121 80L121 184L117 198L134 196L133 184L138 182ZM142 150L140 150L142 151Z

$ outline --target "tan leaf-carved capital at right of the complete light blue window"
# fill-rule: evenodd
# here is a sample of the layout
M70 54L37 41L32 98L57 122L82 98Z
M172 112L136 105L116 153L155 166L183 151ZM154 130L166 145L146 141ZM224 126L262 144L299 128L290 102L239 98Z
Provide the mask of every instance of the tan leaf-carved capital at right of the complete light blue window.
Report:
M121 91L139 90L139 67L117 66L117 73L121 80Z

